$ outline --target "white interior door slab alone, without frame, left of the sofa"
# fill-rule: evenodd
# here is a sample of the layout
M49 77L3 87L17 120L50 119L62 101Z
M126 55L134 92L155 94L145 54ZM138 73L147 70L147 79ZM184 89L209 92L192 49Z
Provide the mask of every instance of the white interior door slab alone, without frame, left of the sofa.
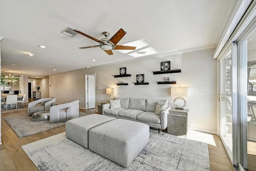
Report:
M88 109L95 108L95 76L88 75Z

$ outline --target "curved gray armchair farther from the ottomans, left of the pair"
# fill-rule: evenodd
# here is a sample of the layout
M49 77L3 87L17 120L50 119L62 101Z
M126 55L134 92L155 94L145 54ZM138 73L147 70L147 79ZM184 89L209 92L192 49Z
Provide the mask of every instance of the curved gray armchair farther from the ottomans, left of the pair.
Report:
M51 106L55 105L56 99L54 98L42 98L28 103L28 116L32 116L37 111L50 110ZM40 105L37 105L40 103Z

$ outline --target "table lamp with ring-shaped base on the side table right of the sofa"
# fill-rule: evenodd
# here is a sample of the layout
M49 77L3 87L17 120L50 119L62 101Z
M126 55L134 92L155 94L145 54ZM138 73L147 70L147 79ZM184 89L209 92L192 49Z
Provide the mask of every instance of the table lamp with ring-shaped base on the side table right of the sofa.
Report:
M176 107L177 110L183 110L184 106L186 105L186 101L183 97L188 97L189 96L189 88L188 87L171 87L171 96L175 96L176 98L173 101L174 106ZM177 97L178 96L178 97ZM183 96L183 97L181 97ZM182 99L183 100L183 105L177 105L176 100Z

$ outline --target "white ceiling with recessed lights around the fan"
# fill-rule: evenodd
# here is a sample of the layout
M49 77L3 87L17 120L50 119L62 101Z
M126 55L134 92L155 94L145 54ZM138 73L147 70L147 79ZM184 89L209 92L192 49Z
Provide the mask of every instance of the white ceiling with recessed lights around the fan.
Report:
M234 1L1 0L1 68L29 78L42 78L134 59L117 50L108 56L99 47L79 49L98 43L80 34L73 38L61 34L68 26L99 40L104 38L103 31L110 32L111 38L123 28L127 34L118 45L141 40L156 51L155 56L216 47ZM36 55L30 57L28 52Z

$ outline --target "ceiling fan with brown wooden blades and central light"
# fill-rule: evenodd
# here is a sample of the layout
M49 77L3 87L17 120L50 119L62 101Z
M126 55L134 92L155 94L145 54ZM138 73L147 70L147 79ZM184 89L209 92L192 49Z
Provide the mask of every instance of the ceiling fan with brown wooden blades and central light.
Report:
M104 36L106 36L106 38L102 38L100 40L98 40L96 38L93 38L92 36L89 36L88 34L85 34L85 33L80 32L78 30L73 30L73 31L77 32L79 34L82 34L83 36L86 36L87 38L90 38L90 39L100 43L99 45L86 46L86 47L82 47L80 49L100 47L108 55L113 55L112 50L135 50L136 49L136 47L134 47L134 46L116 45L122 39L122 37L124 37L124 35L126 34L126 31L124 31L122 28L120 28L120 30L118 32L116 32L116 34L110 39L108 38L110 33L109 32L103 32L103 34L104 34Z

